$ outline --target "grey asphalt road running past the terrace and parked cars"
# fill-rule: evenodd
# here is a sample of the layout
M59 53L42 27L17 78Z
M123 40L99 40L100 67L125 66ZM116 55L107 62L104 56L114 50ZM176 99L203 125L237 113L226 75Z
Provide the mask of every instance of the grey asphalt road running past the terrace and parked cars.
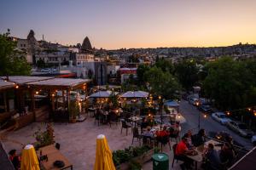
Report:
M215 131L215 132L226 132L230 133L234 140L238 143L245 146L248 150L253 148L253 144L250 139L245 139L238 134L231 131L229 128L221 125L220 123L214 121L210 115L207 115L205 118L201 111L198 111L197 108L193 105L189 105L188 101L182 100L180 102L180 113L186 119L186 122L182 124L183 133L187 132L189 129L194 129L193 132L198 132L198 120L199 115L201 115L201 128L206 129L207 132Z

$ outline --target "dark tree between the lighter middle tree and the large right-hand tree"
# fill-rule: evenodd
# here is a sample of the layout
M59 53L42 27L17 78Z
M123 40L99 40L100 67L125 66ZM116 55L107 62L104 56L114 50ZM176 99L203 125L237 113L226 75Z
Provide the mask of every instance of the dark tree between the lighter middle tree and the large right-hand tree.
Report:
M177 63L174 67L178 81L187 91L199 81L199 68L196 66L195 60L186 59Z

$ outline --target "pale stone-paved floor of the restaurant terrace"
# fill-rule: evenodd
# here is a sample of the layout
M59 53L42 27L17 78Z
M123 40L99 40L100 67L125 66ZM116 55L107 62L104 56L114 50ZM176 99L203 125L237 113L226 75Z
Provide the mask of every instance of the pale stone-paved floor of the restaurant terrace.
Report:
M35 142L32 134L38 130L38 127L45 129L44 123L34 122L27 127L11 132L3 139L4 147L7 151L16 149L20 153L21 144L30 144ZM93 118L88 118L84 122L77 123L54 123L55 141L61 144L61 153L67 156L67 159L73 163L75 170L90 170L93 169L96 151L96 136L105 134L108 139L108 144L111 150L124 149L131 145L132 134L131 130L128 135L125 131L120 133L120 124L113 125L111 128L108 125L97 126L94 124ZM21 143L21 144L20 144ZM134 145L138 145L135 139ZM172 150L166 145L164 151L170 155L170 169L172 163ZM152 169L152 161L144 164L144 170ZM180 169L179 163L174 163L174 169Z

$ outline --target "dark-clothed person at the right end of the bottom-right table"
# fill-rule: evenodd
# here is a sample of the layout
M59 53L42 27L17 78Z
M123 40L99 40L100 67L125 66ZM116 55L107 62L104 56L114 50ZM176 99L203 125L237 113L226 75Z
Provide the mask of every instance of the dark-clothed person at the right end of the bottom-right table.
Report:
M230 148L230 145L224 143L219 153L220 161L223 163L228 162L228 166L230 166L232 165L234 156L235 156L234 151Z

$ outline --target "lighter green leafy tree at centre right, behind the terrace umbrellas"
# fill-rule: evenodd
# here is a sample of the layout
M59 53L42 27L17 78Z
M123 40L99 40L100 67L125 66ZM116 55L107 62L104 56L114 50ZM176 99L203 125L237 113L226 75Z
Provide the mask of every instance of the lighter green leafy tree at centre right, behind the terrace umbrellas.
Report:
M161 95L165 99L177 99L180 86L170 72L164 72L154 66L146 71L145 77L149 83L151 93Z

